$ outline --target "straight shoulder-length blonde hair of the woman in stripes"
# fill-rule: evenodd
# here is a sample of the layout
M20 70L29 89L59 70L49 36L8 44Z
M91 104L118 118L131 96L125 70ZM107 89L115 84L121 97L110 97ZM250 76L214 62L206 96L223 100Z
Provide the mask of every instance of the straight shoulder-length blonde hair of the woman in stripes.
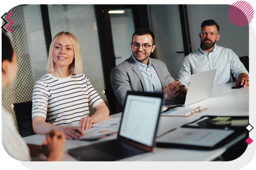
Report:
M83 65L82 65L82 59L81 59L81 50L80 50L80 44L79 41L77 40L76 36L70 32L59 32L58 34L55 35L53 38L50 49L49 49L49 56L48 56L48 61L47 61L47 71L55 71L54 66L55 63L52 60L52 51L54 48L54 43L57 40L58 37L61 35L66 35L67 37L70 38L71 42L73 43L73 48L74 48L74 59L73 62L69 66L69 72L73 72L74 74L82 74L83 71Z

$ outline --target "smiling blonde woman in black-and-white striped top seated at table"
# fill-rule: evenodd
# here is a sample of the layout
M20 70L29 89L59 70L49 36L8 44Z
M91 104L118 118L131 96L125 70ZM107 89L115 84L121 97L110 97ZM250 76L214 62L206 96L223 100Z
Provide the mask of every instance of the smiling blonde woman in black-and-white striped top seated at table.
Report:
M82 74L79 41L70 32L60 32L53 38L47 70L49 73L35 83L32 95L35 133L61 130L67 139L79 139L82 130L108 117L108 107ZM96 110L91 117L89 105ZM75 124L79 126L70 127Z

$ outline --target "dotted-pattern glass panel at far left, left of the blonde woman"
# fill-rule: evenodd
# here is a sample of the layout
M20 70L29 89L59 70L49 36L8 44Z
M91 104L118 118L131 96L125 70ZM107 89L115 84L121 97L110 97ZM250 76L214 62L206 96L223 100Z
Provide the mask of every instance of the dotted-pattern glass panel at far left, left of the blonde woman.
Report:
M32 100L32 92L35 82L48 71L47 50L44 38L44 28L40 5L14 6L3 16L6 18L10 13L13 24L10 27L12 33L7 30L6 35L11 40L17 54L19 65L17 75L11 86L5 87L1 93L1 105L9 111L17 128L17 121L12 103L28 102ZM17 128L18 130L18 128Z

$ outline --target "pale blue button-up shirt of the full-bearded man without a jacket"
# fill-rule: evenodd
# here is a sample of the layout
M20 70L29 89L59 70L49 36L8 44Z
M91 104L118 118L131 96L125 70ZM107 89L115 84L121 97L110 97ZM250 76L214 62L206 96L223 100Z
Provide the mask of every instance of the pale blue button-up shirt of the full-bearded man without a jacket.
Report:
M180 84L188 88L192 74L215 68L217 68L217 71L212 87L233 82L230 73L234 74L236 79L241 73L246 73L249 76L248 71L234 51L215 44L215 47L209 53L200 47L187 55L180 68L178 80L181 82Z

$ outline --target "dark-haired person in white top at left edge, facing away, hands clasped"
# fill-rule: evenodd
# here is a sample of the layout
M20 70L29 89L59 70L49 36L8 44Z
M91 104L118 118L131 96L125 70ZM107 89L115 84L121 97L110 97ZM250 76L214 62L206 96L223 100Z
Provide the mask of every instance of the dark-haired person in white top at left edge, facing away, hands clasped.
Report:
M9 38L1 32L1 91L5 86L12 85L17 69L15 51ZM47 161L61 161L65 152L66 136L61 131L51 130L46 133L43 145L26 144L17 133L11 114L1 107L1 142L6 153L17 161L30 161L30 156L41 153L48 157Z

